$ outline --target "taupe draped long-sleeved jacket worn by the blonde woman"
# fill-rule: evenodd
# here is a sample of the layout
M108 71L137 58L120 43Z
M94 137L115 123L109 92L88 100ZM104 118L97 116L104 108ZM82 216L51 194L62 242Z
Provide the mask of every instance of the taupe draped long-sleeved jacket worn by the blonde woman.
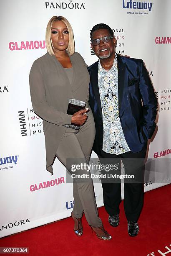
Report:
M89 73L83 58L75 52L70 56L73 81L49 53L34 61L30 70L30 95L34 112L43 119L46 146L46 169L53 175L52 164L71 115L67 115L70 98L88 101Z

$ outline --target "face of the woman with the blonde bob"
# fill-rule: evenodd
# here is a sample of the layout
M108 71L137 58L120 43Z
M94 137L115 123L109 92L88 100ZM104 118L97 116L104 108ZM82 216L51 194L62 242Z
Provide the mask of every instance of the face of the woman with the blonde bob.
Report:
M63 21L54 21L51 28L54 51L65 51L68 47L69 32Z

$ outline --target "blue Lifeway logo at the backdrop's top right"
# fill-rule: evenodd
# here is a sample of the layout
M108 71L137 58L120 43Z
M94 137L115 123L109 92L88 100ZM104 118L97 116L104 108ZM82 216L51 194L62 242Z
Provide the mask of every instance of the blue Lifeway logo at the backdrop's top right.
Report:
M133 2L132 0L126 2L125 0L122 0L122 6L126 9L148 9L151 12L152 3Z

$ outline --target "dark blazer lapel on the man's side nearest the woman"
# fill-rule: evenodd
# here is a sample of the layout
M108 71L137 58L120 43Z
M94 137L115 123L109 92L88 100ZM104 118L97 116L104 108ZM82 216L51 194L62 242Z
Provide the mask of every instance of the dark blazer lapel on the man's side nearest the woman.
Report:
M97 100L98 109L102 116L101 98L100 98L100 93L98 88L98 61L93 65L91 69L90 79L91 79L91 86Z

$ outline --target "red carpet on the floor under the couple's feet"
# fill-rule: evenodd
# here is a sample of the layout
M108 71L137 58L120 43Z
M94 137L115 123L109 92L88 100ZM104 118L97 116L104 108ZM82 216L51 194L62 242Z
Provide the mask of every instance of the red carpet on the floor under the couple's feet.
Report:
M29 247L29 255L43 256L160 256L171 248L171 184L145 193L144 207L139 219L138 236L130 237L127 221L120 206L120 224L117 228L109 225L104 207L99 215L111 241L101 241L91 233L91 228L83 216L83 236L73 233L73 220L66 218L38 228L33 228L0 239L0 247ZM16 255L16 254L10 254ZM166 255L171 255L168 253Z

